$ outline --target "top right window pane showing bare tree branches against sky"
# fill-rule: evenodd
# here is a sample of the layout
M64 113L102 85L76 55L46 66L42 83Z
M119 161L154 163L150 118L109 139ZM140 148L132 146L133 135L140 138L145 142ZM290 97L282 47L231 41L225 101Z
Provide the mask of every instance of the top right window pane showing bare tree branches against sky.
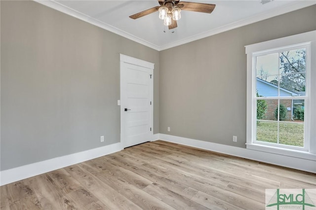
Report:
M281 73L298 73L306 71L306 49L284 51L280 53Z

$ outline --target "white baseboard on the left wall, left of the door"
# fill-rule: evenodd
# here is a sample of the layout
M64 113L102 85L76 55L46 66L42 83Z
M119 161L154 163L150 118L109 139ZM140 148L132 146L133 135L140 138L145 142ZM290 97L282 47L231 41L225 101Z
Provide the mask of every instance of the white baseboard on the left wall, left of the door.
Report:
M53 159L32 163L25 166L20 166L13 169L8 169L0 172L0 185L12 183L14 181L29 178L35 175L44 174L56 169L61 169L87 160L98 158L122 149L121 143L114 143L107 146L102 146L94 149L89 149L82 152L77 152L70 155L56 157Z

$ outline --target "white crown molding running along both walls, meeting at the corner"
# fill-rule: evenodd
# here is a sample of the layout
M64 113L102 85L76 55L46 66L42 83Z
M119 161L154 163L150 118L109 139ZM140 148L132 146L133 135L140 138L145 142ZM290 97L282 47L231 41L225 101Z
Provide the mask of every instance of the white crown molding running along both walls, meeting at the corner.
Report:
M110 31L112 33L115 33L117 35L123 36L125 38L130 39L130 40L133 40L135 42L143 44L143 45L145 45L147 47L150 47L150 48L153 48L155 50L158 50L158 51L169 49L169 48L172 48L172 47L176 47L176 46L179 46L179 45L182 45L182 44L186 44L186 43L189 43L189 42L192 42L192 41L196 41L198 39L202 39L202 38L205 38L205 37L208 37L208 36L211 36L211 35L220 34L222 32L230 31L232 29L236 29L236 28L239 28L241 26L249 25L249 24L252 24L252 23L255 23L255 22L258 22L258 21L262 21L262 20L266 20L268 18L275 17L277 15L285 14L285 13L288 13L288 12L291 12L291 11L294 11L294 10L302 9L304 7L308 7L308 6L316 4L316 0L299 0L299 1L295 1L292 4L284 6L282 8L275 8L275 9L270 10L268 12L260 13L258 15L255 15L255 16L252 16L252 17L249 17L249 18L246 18L246 19L243 19L243 20L231 23L231 24L227 24L227 25L222 26L222 27L218 27L218 28L215 28L215 29L212 29L212 30L209 30L209 31L197 34L197 35L193 35L193 36L181 39L181 40L177 40L177 41L174 41L174 42L169 43L169 44L158 46L158 45L153 44L153 43L151 43L149 41L141 39L141 38L139 38L139 37L137 37L135 35L131 35L131 34L129 34L127 32L124 32L124 31L122 31L122 30L120 30L118 28L115 28L115 27L113 27L113 26L111 26L109 24L101 22L101 21L99 21L99 20L97 20L95 18L92 18L92 17L88 16L88 15L85 15L85 14L83 14L83 13L77 11L77 10L74 10L74 9L72 9L70 7L62 5L62 4L58 3L55 0L34 0L34 1L36 1L36 2L38 2L40 4L43 4L45 6L48 6L50 8L56 9L56 10L58 10L60 12L68 14L70 16L73 16L75 18L78 18L78 19L80 19L82 21L85 21L87 23L90 23L92 25L95 25L97 27L100 27L102 29L105 29L107 31Z

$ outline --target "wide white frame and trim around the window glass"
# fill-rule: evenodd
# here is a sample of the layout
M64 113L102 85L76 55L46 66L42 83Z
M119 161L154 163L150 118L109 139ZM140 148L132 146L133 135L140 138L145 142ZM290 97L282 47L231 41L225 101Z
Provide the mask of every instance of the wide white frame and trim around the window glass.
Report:
M256 142L256 61L261 54L270 54L285 47L294 49L307 48L306 81L307 98L305 98L304 148L296 146L279 146L271 143ZM282 37L245 46L247 54L247 131L246 148L292 157L316 160L316 31L299 35ZM286 49L287 50L287 49ZM309 62L308 62L309 61ZM309 81L312 81L309 83ZM271 97L269 97L270 99ZM262 99L265 99L264 97ZM286 99L282 97L282 99ZM295 99L295 98L293 98ZM313 117L312 117L313 116Z

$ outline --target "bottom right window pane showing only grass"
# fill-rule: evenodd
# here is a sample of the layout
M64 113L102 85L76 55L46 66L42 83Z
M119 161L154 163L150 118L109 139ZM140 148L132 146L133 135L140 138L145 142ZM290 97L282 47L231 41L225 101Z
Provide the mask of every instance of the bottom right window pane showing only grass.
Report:
M279 143L304 147L304 123L279 123Z

